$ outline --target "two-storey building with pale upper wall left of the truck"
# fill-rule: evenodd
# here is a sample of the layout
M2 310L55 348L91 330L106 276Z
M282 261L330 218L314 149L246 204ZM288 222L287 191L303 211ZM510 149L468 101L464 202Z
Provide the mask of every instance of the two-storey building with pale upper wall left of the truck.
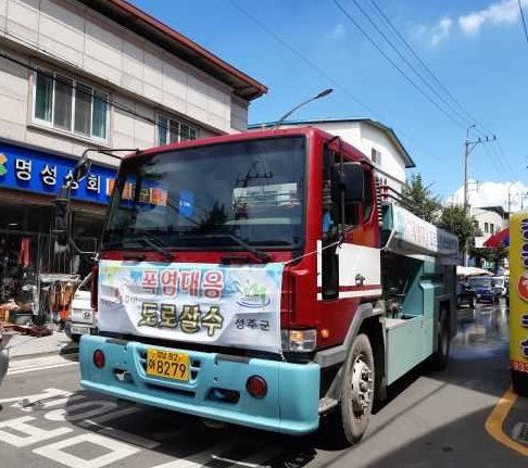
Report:
M266 91L126 1L0 0L0 299L28 276L87 271L53 236L53 200L85 150L242 131ZM74 237L86 251L118 165L91 159L73 187Z

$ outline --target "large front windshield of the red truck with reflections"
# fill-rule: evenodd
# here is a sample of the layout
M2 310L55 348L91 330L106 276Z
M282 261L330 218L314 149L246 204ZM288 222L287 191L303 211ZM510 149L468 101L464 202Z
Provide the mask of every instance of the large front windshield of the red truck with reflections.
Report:
M292 248L302 241L304 137L123 161L103 249Z

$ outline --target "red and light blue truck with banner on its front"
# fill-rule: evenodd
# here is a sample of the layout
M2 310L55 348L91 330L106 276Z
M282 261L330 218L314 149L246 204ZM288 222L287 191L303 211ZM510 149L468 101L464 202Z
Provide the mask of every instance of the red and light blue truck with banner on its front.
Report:
M81 384L289 434L331 415L356 442L374 399L425 358L444 366L453 336L452 263L414 249L404 216L368 159L316 128L125 157Z

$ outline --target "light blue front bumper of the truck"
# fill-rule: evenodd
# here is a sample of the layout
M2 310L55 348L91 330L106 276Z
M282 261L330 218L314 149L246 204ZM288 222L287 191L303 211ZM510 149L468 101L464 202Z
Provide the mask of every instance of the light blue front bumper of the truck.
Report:
M144 369L149 347L189 354L189 381L148 376ZM102 369L93 365L96 350L105 355ZM120 380L116 374L123 376L124 371L126 378ZM288 434L312 432L319 423L319 366L313 363L244 361L216 353L84 336L80 374L80 383L88 390L203 418ZM267 394L263 399L254 399L246 390L246 382L253 375L267 382ZM231 395L238 392L238 401L218 399L223 390L230 391Z

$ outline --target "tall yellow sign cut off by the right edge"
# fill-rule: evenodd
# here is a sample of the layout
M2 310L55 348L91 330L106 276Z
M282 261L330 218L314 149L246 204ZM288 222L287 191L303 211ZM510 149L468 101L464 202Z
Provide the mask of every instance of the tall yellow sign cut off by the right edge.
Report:
M527 212L510 219L510 368L528 376Z

